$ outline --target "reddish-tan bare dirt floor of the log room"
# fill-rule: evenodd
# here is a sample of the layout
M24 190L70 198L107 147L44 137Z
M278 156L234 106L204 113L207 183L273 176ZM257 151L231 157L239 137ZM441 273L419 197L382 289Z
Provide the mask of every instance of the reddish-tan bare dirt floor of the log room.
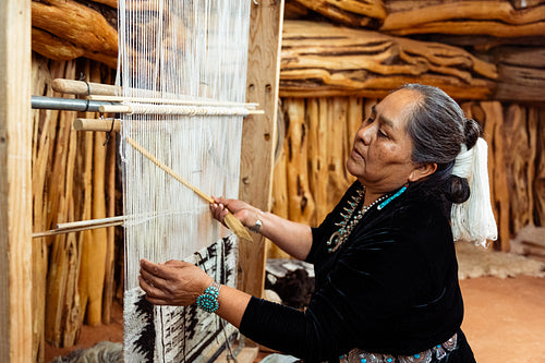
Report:
M462 329L479 363L545 363L545 278L481 277L460 285L465 302ZM76 348L120 342L122 329L122 311L116 306L112 324L84 326ZM46 362L73 349L48 348Z

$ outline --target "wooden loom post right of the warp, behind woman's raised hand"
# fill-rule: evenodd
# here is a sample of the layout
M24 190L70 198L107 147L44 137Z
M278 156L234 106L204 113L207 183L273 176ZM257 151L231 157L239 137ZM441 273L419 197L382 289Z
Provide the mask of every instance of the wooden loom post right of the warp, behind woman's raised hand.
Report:
M244 120L239 197L263 210L271 206L282 15L283 0L252 2L246 100L259 104L265 114L251 114ZM258 234L254 242L240 246L240 288L261 297L266 244Z

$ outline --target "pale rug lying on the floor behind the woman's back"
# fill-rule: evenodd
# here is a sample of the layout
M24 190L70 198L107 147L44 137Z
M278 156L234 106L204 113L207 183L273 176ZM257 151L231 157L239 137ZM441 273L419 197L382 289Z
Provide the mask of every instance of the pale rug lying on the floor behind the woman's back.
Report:
M456 244L459 279L494 276L499 278L529 275L545 277L545 264L514 253L498 252L471 243Z

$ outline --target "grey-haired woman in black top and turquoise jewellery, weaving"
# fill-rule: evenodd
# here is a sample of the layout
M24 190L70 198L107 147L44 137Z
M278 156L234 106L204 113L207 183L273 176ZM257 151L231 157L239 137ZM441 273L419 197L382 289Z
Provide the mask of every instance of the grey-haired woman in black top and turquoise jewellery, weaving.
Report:
M315 293L304 312L221 287L175 261L142 261L141 287L154 304L197 303L252 340L305 362L474 362L460 329L453 241L495 239L482 187L486 170L474 170L483 155L479 124L449 96L407 85L362 123L347 161L358 180L319 227L241 201L210 205L216 219L228 208L244 226L314 264ZM484 216L468 217L468 208Z

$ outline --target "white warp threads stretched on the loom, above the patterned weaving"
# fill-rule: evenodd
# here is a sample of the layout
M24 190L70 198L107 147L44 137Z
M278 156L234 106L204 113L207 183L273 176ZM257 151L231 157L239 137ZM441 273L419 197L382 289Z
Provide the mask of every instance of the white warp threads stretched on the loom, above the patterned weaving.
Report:
M130 104L135 113L122 114L122 141L133 138L211 196L239 195L250 7L247 0L118 3L121 96L157 99ZM197 101L177 106L162 99ZM202 100L209 105L198 106ZM154 111L165 114L147 114ZM205 201L121 144L123 214L160 216L125 225L125 285L133 289L141 258L185 258L225 230Z

